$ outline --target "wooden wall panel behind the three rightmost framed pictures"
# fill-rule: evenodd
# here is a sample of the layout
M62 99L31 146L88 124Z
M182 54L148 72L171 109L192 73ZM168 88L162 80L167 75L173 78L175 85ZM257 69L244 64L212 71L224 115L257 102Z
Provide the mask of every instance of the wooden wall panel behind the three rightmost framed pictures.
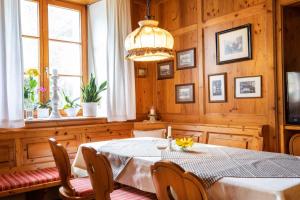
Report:
M277 149L275 132L275 83L273 57L273 14L272 1L259 4L255 12L243 15L228 14L225 18L215 18L204 25L205 93L208 93L207 75L226 72L228 76L228 102L211 104L205 99L205 122L209 123L252 123L269 124L270 136L266 140L268 149ZM229 21L231 19L231 21ZM213 22L212 22L213 20ZM216 65L215 32L239 25L252 24L253 59L244 62ZM213 55L213 56L212 56ZM263 75L263 98L234 99L234 77Z

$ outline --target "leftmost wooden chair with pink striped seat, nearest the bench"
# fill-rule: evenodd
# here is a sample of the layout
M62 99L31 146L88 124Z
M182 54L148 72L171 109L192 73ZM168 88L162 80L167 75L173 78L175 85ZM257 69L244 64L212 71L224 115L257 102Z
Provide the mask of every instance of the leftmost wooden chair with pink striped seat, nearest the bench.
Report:
M95 194L89 177L72 179L71 164L66 149L54 138L49 138L50 147L59 172L62 186L59 194L64 200L90 200Z

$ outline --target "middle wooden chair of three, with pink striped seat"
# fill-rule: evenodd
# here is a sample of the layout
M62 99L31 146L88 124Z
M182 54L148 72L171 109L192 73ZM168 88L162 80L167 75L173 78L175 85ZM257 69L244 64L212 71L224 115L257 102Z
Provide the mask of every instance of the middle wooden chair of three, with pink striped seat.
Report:
M91 147L82 147L82 154L96 193L96 200L157 199L155 194L143 192L132 187L126 186L114 190L113 173L108 159Z

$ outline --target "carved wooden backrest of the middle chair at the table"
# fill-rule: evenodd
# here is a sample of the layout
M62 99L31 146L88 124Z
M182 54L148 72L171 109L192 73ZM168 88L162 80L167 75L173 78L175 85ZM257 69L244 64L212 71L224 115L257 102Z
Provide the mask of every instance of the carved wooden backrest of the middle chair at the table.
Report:
M110 200L110 193L114 190L114 182L108 159L91 147L82 147L82 154L96 194L96 200Z

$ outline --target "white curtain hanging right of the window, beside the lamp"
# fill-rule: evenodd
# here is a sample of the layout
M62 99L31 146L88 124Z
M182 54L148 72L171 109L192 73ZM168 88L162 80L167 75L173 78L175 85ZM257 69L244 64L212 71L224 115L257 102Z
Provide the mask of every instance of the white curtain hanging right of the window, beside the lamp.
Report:
M107 116L109 121L136 118L134 66L125 60L131 30L130 0L107 1Z

